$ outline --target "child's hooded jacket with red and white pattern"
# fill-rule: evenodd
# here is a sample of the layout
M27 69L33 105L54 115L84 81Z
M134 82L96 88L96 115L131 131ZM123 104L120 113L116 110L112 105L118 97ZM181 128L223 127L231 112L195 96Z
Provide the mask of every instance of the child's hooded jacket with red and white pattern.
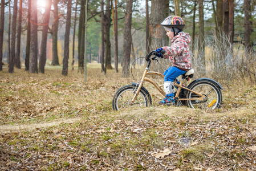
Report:
M164 58L169 58L170 62L172 62L175 67L190 70L189 42L189 34L183 31L179 32L172 38L172 46L162 47L162 49L165 50Z

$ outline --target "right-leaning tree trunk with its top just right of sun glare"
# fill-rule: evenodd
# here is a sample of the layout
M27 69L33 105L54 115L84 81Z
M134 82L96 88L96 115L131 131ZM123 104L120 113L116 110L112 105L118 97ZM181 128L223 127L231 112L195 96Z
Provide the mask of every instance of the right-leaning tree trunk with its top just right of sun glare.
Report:
M48 26L50 21L51 13L51 4L52 0L47 0L44 17L43 17L43 31L42 31L42 40L40 47L40 56L39 56L39 72L44 73L44 66L46 64L46 51L47 51L47 35L48 35Z

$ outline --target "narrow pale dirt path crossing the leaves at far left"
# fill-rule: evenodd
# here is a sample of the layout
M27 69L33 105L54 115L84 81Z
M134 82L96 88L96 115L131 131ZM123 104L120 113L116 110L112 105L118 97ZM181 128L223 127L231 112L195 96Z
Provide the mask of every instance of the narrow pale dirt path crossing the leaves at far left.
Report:
M0 125L0 134L32 130L35 128L46 128L54 125L59 125L62 123L74 123L75 121L79 121L81 119L82 119L81 117L76 117L76 118L69 118L69 119L53 120L51 122L43 122L43 123L36 123L36 124Z

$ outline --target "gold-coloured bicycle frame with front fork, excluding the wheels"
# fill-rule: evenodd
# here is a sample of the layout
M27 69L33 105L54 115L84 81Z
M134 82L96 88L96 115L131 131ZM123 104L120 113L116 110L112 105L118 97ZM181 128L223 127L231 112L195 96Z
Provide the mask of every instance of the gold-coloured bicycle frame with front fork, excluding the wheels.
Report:
M150 57L150 56L149 56ZM147 58L146 58L147 60ZM148 64L147 64L147 67L145 68L145 71L144 71L144 74L143 74L143 77L141 78L141 81L140 81L140 84L139 84L139 87L137 88L137 91L135 93L135 96L133 97L132 99L132 103L135 102L135 100L137 99L137 96L139 95L139 92L140 92L140 89L141 87L143 86L143 83L146 81L146 82L149 82L151 84L153 84L153 86L156 87L156 89L163 95L165 96L165 91L162 90L161 87L163 87L164 85L158 85L155 81L153 81L152 79L149 79L147 78L146 76L147 75L157 75L157 76L161 76L161 78L164 78L164 74L161 74L160 72L155 72L155 71L148 71L149 70L149 66L151 64L151 59L147 60L148 61ZM138 82L139 83L139 82ZM175 82L174 83L174 86L177 86L178 87L178 90L176 92L176 96L175 98L178 98L178 96L180 95L180 91L181 91L181 88L183 89L186 89L187 91L191 91L193 93L195 93L196 95L200 96L200 98L195 98L195 99L178 99L178 100L197 100L197 101L204 101L207 99L207 97L205 95L202 95L201 93L198 93L198 92L195 92L195 91L192 91L191 89L189 88L186 88L186 87L183 87L183 83L184 83L184 79L181 79L181 82L180 84L177 84Z

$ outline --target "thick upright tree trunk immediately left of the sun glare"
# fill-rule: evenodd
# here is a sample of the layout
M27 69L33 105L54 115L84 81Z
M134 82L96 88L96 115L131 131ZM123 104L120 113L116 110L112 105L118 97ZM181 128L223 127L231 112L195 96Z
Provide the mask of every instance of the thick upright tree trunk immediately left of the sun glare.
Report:
M38 35L37 35L37 1L31 2L31 39L29 72L38 73Z

